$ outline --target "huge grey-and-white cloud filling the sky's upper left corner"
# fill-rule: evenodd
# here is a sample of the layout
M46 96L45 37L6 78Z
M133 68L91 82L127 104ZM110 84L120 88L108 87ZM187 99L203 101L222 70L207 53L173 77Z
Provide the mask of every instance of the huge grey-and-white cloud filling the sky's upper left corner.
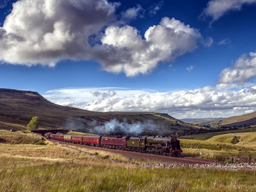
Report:
M21 0L0 27L0 60L13 64L54 66L63 59L90 59L91 35L116 21L120 3Z

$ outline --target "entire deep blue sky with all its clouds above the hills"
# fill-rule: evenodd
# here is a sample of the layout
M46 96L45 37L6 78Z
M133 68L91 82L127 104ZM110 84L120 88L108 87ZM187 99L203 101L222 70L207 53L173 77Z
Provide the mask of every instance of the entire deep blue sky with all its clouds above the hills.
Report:
M92 111L255 111L256 0L2 0L0 87Z

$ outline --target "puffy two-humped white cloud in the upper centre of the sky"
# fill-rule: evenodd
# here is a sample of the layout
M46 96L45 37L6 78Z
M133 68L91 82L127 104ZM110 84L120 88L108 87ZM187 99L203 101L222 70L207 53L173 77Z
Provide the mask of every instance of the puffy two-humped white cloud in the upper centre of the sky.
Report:
M109 51L101 51L103 68L116 73L123 71L126 76L147 73L160 61L174 61L196 49L201 34L175 18L164 17L159 25L149 27L144 37L128 25L106 28L101 48Z

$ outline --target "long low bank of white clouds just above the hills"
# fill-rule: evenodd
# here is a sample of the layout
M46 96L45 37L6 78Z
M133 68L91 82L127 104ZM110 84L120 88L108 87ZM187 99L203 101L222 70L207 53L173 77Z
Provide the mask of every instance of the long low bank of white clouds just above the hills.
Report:
M228 86L236 87L235 84L233 87ZM66 96L61 97L61 95L67 94L70 101L68 106L90 111L162 112L177 119L229 117L255 111L256 86L235 88L236 91L224 89L226 87L225 84L220 84L215 88L208 86L174 92L124 88L105 88L105 90L104 88L70 88L51 90L43 96L51 102L66 105ZM97 89L99 93L95 95ZM113 90L115 94L108 94Z

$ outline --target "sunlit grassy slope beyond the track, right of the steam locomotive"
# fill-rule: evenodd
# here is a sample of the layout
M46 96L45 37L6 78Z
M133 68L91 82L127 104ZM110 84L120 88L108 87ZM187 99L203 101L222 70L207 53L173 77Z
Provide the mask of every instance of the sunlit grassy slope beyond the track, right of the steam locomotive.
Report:
M239 142L232 144L236 136ZM212 136L208 140L179 139L184 156L229 162L231 157L256 158L256 132L227 133Z

